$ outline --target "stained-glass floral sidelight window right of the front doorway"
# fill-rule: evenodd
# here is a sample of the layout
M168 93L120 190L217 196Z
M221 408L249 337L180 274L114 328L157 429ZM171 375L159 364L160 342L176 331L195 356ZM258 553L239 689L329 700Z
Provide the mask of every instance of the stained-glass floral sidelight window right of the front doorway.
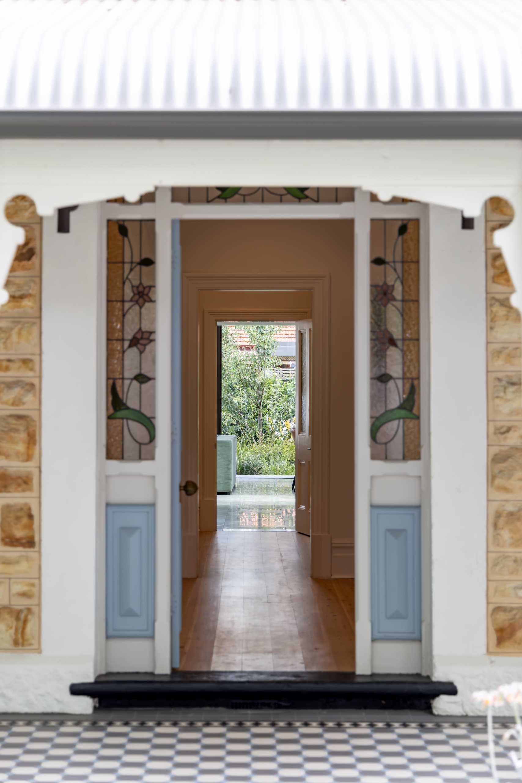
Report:
M370 443L373 460L419 460L419 221L370 233Z

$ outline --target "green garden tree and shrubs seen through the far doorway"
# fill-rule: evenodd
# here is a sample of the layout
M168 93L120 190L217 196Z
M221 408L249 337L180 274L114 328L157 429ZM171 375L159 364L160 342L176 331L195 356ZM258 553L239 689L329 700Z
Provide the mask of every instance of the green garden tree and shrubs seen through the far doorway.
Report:
M252 348L239 348L221 330L221 431L236 435L239 475L293 475L295 377L277 377L276 327L240 327Z

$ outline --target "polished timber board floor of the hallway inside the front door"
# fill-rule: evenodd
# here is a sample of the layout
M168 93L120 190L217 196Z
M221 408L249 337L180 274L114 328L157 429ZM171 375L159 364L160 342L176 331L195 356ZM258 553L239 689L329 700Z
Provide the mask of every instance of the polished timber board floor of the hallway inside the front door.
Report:
M309 551L295 532L200 533L179 670L353 672L354 579L311 579Z

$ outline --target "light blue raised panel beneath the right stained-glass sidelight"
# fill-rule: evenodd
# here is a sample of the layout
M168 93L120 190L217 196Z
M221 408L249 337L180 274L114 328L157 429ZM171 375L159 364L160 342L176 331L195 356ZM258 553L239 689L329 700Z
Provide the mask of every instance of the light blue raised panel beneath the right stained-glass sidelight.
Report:
M420 639L420 509L372 508L372 638Z

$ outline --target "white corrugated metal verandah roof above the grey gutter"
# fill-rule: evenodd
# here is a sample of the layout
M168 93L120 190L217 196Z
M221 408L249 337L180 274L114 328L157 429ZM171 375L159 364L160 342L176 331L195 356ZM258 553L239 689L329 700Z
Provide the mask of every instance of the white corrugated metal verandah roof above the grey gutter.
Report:
M520 110L520 0L2 0L0 110Z

